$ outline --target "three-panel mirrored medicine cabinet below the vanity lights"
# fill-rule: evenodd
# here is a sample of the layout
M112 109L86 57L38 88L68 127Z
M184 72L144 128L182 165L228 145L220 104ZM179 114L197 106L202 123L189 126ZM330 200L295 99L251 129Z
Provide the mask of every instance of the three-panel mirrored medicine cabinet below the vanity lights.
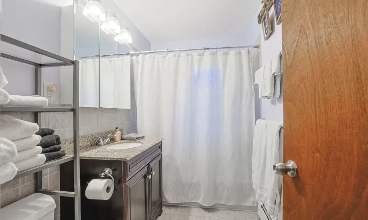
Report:
M127 43L131 42L131 35L124 21L119 19L122 12L108 9L113 1L98 2L104 8L103 20L115 21L112 31L108 30L109 22L98 22L88 15L87 1L75 3L75 56L80 62L80 106L130 109L131 57ZM120 29L123 35L114 33Z

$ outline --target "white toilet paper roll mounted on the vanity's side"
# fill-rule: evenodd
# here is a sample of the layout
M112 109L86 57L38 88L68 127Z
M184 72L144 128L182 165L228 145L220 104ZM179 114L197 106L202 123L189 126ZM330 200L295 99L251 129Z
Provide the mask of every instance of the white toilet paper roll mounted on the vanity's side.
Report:
M114 192L111 179L92 179L85 190L85 196L89 199L107 200Z

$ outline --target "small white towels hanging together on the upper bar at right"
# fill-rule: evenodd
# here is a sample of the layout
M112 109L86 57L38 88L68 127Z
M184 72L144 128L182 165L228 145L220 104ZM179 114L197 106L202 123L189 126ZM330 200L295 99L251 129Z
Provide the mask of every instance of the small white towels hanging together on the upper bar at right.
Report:
M254 84L258 84L259 98L277 99L280 97L282 73L282 53L279 52L274 59L256 71Z

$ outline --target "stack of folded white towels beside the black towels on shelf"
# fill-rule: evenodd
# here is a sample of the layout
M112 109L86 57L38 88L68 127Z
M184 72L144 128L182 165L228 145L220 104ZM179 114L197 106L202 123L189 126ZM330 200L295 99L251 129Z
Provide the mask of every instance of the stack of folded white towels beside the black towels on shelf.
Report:
M38 125L9 115L0 115L0 184L10 181L17 172L43 164Z

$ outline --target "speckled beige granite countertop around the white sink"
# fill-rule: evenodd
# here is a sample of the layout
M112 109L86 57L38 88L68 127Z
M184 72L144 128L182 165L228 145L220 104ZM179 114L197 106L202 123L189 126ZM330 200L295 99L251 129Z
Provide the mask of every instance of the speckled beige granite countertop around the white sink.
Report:
M87 148L80 149L79 157L80 159L96 159L96 160L130 160L138 154L143 153L147 149L153 147L157 143L161 142L163 138L156 137L145 137L137 141L122 140L118 142L111 142L103 146L91 146ZM129 143L138 142L141 146L123 149L123 150L108 150L106 147L119 144L119 143Z

